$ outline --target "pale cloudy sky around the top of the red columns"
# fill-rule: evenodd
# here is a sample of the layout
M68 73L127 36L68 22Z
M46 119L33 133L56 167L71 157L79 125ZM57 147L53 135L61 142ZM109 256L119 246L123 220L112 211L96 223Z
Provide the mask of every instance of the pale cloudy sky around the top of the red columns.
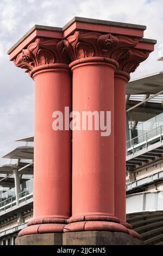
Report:
M162 0L1 0L0 1L0 164L1 157L33 135L34 83L9 62L7 50L35 24L62 27L74 16L146 25L145 37L158 44L131 78L163 70Z

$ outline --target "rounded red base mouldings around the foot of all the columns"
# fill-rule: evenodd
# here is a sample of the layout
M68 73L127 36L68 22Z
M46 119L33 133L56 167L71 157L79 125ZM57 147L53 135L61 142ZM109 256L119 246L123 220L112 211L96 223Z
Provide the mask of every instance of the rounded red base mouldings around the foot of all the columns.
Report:
M127 222L120 222L113 216L79 216L69 219L36 218L28 222L28 227L18 233L18 237L30 234L67 233L76 231L110 231L126 233L140 239L132 226Z

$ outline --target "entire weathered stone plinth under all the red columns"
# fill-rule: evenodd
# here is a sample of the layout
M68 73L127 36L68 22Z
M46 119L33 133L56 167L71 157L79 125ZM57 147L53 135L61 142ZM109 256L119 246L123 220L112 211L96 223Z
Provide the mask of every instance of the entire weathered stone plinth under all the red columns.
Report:
M16 245L143 245L143 242L125 233L109 231L77 231L23 235Z

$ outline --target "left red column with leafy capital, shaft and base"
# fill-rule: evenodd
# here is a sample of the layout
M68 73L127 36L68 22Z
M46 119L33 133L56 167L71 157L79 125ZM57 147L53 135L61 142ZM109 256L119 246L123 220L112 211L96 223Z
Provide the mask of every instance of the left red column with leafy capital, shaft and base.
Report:
M72 105L68 58L60 47L59 40L37 38L14 59L35 82L34 218L18 236L62 233L71 214L71 131L52 127L53 112Z

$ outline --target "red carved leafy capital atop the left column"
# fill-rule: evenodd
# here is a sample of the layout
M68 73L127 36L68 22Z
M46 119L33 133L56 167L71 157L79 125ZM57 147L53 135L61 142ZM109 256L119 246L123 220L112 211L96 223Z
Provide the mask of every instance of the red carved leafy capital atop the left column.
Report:
M43 38L37 38L14 59L17 67L28 72L37 66L67 62L67 53L62 47L62 41Z

